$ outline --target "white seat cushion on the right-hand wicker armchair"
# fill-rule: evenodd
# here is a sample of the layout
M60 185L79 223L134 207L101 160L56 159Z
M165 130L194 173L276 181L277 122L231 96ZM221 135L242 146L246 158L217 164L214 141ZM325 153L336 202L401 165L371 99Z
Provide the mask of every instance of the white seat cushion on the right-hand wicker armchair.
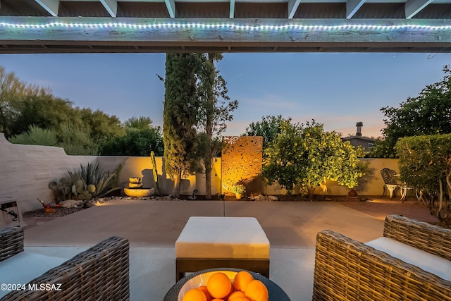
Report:
M366 245L401 259L403 262L418 266L424 271L451 281L451 262L445 258L433 255L423 250L416 249L392 238L377 238L366 242Z

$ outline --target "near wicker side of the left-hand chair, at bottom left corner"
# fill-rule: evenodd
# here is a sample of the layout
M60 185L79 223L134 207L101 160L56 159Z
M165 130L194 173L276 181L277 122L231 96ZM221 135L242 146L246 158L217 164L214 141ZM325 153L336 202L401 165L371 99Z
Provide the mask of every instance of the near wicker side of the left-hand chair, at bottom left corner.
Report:
M128 240L112 237L25 285L61 284L59 290L16 290L0 300L130 300L129 266Z

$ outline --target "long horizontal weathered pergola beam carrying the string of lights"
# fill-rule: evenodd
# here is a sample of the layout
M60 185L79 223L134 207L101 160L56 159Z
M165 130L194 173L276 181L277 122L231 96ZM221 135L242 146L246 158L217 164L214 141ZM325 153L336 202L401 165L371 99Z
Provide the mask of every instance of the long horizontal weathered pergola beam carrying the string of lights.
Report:
M36 45L48 52L87 47L99 52L451 51L451 20L425 24L421 19L0 17L5 45L0 53L30 53Z

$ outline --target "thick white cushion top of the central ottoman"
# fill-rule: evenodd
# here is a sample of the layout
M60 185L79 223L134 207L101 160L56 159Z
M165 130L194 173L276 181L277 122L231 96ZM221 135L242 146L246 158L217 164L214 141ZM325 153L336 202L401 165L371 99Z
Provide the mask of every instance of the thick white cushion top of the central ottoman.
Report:
M254 217L192 216L175 242L175 257L269 259L269 247Z

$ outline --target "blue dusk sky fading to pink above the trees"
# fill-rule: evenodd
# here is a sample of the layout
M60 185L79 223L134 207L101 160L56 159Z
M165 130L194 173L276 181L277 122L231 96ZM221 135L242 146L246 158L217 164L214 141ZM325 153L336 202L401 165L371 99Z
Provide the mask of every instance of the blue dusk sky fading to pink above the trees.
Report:
M147 116L163 124L165 54L1 54L0 65L27 83L49 87L74 106L121 121ZM224 54L218 64L238 109L225 135L262 116L315 119L343 136L380 136L383 106L398 106L443 78L450 54Z

